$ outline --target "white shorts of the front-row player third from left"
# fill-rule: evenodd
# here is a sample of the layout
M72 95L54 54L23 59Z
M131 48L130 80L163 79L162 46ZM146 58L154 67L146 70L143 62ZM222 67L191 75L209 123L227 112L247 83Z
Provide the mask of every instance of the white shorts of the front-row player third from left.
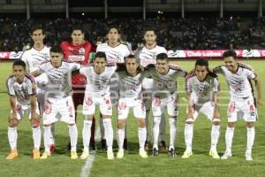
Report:
M95 105L99 105L100 112L103 115L112 115L112 107L110 94L104 96L89 96L87 92L85 93L84 104L83 104L83 114L92 115L95 114Z

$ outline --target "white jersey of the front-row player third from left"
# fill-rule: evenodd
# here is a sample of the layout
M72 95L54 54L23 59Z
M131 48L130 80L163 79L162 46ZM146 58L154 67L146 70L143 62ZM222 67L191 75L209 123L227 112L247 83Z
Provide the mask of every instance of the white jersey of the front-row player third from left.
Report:
M86 94L89 96L104 96L110 94L110 78L117 66L105 66L103 73L95 73L94 66L81 67L79 72L87 77Z

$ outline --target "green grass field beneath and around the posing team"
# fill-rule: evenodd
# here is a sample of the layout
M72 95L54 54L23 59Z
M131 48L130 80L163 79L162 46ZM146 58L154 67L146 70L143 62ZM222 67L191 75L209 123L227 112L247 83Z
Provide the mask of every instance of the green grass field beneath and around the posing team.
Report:
M210 66L221 64L222 61L211 61ZM261 82L265 78L264 65L265 61L245 61L244 63L252 65L259 74ZM178 61L174 64L180 65L185 70L193 68L194 61ZM19 158L12 161L5 160L9 153L10 147L7 140L7 117L10 112L8 95L5 89L5 80L11 74L11 63L0 63L0 176L80 176L82 167L85 165L83 160L71 160L69 152L66 151L66 143L69 141L67 127L62 122L57 123L56 129L56 151L51 158L47 160L34 161L31 158L33 149L32 131L27 120L24 118L18 128L19 140L18 150ZM226 82L223 76L220 76L221 83L221 102L228 103L228 92ZM262 88L264 94L265 86ZM125 158L108 161L106 154L97 150L95 161L91 168L90 176L264 176L265 173L265 106L259 107L259 121L256 123L256 136L253 150L253 162L245 160L246 150L246 127L245 122L240 120L235 129L232 153L233 157L228 160L216 160L208 156L210 146L210 129L211 123L201 116L194 126L193 135L193 157L188 159L180 158L186 146L184 142L184 120L186 107L184 106L184 84L179 79L178 89L180 92L180 112L178 116L178 134L176 142L177 158L171 159L168 154L160 153L158 157L149 157L142 159L138 155L138 137L135 119L128 119L128 141L129 150L125 152ZM265 103L265 102L264 102ZM79 107L80 110L81 107ZM219 138L217 150L219 155L225 150L224 133L226 128L226 106L220 108L222 116L222 129ZM113 118L114 139L116 139L117 119ZM98 121L97 121L98 123ZM82 149L82 119L78 116L79 142L78 152ZM169 124L167 123L167 142L169 142ZM100 147L100 143L98 143ZM117 142L114 142L114 150L117 152Z

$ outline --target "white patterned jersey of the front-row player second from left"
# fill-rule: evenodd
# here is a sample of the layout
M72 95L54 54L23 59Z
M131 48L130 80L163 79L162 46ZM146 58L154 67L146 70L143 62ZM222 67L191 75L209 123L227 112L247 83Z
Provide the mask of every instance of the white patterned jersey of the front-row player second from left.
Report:
M46 90L49 98L62 98L69 96L72 91L71 72L78 70L80 65L62 61L62 65L54 67L51 61L44 63L38 69L39 73L46 73L48 84Z

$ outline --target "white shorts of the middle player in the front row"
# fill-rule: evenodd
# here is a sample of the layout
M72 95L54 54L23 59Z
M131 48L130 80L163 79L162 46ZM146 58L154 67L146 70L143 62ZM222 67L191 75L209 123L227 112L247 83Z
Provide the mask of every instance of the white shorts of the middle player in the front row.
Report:
M127 119L130 108L133 108L134 118L146 118L146 106L140 99L120 98L117 103L117 119Z

